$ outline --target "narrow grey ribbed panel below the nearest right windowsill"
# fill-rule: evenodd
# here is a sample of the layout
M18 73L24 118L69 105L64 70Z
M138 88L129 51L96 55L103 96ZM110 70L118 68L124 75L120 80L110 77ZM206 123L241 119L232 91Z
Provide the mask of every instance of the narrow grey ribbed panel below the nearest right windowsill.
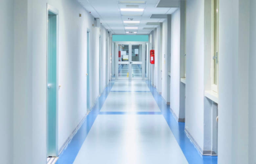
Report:
M218 104L212 104L212 155L218 154Z

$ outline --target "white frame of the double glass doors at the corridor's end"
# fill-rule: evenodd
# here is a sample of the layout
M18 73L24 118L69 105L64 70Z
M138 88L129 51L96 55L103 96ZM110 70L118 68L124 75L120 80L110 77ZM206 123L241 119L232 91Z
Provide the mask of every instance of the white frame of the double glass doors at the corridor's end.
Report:
M142 46L142 77L140 78L132 78L132 76L131 76L131 71L132 71L132 64L131 63L129 63L129 62L122 62L121 64L129 64L129 77L128 78L126 78L126 77L119 77L118 78L118 57L115 57L115 72L116 72L116 76L114 77L115 78L115 80L145 80L145 73L143 73L144 71L145 71L145 66L144 66L144 64L145 64L145 62L143 62L144 60L145 60L145 43L148 43L149 44L149 42L129 42L129 41L124 41L124 42L120 42L120 41L118 41L118 42L112 42L111 43L111 45L113 44L113 43L115 43L115 46L116 46L116 52L115 52L115 55L118 55L118 45L120 45L120 44L125 44L125 45L129 45L129 62L132 62L131 60L132 60L132 55L131 55L131 53L132 53L132 45L134 45L134 44L141 44L141 45L143 45ZM113 57L112 57L113 58ZM147 62L149 62L149 59L147 60ZM150 67L150 64L148 64L148 67ZM149 68L148 68L149 69ZM147 78L147 80L148 80L148 78Z

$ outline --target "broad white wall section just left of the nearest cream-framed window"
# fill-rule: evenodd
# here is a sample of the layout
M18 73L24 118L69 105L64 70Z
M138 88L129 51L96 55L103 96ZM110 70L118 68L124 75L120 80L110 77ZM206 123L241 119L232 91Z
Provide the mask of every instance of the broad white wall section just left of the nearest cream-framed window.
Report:
M204 2L186 3L185 128L203 149L204 140Z

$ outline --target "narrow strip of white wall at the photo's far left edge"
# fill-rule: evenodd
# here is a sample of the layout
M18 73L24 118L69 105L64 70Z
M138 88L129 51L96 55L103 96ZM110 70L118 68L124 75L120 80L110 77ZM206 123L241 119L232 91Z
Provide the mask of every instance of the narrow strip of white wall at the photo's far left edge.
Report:
M0 10L0 158L13 164L14 0L1 1Z

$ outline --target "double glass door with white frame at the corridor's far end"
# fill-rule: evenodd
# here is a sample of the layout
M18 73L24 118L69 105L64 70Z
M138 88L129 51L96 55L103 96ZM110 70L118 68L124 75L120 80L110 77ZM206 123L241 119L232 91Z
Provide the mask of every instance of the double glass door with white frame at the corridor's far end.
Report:
M117 80L144 80L145 42L116 43L116 79ZM147 64L146 64L147 65Z

